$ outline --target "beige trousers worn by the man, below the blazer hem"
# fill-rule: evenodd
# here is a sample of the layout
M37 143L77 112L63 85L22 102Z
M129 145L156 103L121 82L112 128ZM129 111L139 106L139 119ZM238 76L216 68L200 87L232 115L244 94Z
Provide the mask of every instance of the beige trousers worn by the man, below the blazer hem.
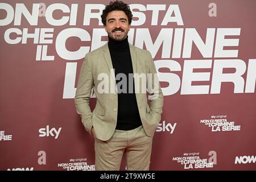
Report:
M119 170L123 152L126 154L128 171L147 171L152 138L146 135L143 126L129 131L115 130L112 138L105 142L94 137L96 171Z

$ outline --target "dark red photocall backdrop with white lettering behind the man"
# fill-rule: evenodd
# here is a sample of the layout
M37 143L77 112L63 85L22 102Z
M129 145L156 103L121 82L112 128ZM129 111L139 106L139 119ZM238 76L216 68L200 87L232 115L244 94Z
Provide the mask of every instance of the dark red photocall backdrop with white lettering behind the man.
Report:
M164 94L150 170L255 170L256 1L125 2ZM73 98L106 3L0 1L0 170L95 169Z

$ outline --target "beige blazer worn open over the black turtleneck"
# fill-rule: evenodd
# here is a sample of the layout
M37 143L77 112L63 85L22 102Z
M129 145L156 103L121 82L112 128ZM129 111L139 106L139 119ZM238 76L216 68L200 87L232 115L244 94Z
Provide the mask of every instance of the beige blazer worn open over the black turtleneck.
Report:
M156 73L155 64L150 52L131 44L129 46L133 73ZM100 85L102 84L102 79L99 80L98 77L101 73L109 77L110 92L108 93L98 91L98 86L102 88L102 85ZM82 63L75 96L76 110L81 115L82 124L85 126L85 129L90 133L93 126L96 138L104 141L112 137L117 125L117 85L115 83L115 76L111 73L113 73L113 65L108 44L87 53ZM139 89L139 92L135 92L139 115L148 136L154 135L161 119L163 107L163 93L158 77L156 78L156 81L152 81L151 77L146 77L147 82L141 82L134 77L134 85L145 86L148 96L152 98L150 106L148 106L147 94L142 92L142 89ZM148 86L149 84L151 86ZM155 84L158 86L155 86ZM93 112L89 106L92 88L97 98Z

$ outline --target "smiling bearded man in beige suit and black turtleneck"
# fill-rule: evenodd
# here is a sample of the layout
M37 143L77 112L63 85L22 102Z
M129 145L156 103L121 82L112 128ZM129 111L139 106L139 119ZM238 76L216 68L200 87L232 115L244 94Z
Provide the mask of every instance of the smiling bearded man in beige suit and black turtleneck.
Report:
M119 170L124 153L127 170L150 166L163 93L150 52L127 41L132 17L122 1L106 6L101 18L109 42L86 54L80 71L75 105L85 129L94 136L96 170ZM93 112L92 88L97 98Z

